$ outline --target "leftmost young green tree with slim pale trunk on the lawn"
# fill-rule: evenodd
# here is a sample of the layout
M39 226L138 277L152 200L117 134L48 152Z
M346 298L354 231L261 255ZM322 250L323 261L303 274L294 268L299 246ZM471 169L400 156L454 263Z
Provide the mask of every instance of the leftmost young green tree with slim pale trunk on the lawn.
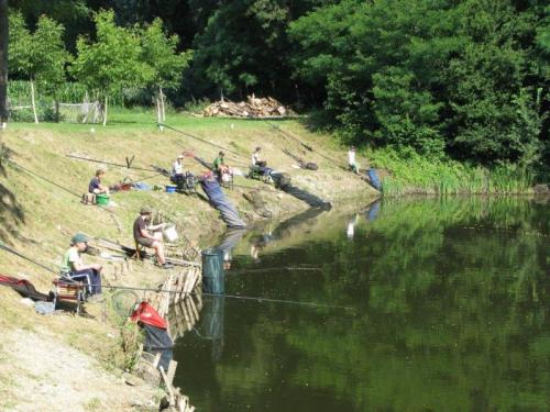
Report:
M35 82L42 86L46 93L54 97L56 108L58 107L57 90L65 82L65 64L69 55L63 43L64 29L52 19L42 15L36 30L31 33L21 13L16 12L10 14L10 31L12 33L10 67L14 73L31 81L34 122L38 123Z

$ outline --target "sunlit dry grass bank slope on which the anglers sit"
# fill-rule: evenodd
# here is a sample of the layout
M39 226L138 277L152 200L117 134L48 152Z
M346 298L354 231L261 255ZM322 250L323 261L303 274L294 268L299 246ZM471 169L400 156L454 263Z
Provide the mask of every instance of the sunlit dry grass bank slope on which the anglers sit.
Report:
M337 151L330 136L311 134L296 122L280 122L278 125L314 147L314 152L285 137L266 122L174 115L167 123L187 135L169 130L160 132L148 119L128 115L114 116L113 123L107 127L9 124L2 133L0 241L56 271L61 256L75 232L133 246L132 222L142 205L164 212L184 229L183 235L199 245L208 245L226 229L219 213L200 196L168 194L153 190L129 191L113 193L112 200L117 205L108 211L84 205L80 196L87 191L88 181L99 167L107 170L108 185L124 179L145 179L153 187L166 185L167 179L153 176L154 171L84 162L66 155L122 165L131 160L132 167L141 169L152 169L153 166L169 169L176 155L183 151L188 152L189 156L212 162L220 147L223 147L228 153L228 163L245 172L250 153L255 146L262 146L271 167L288 172L294 185L330 201L334 208L359 207L378 196L358 176L342 168L345 152ZM283 149L317 163L319 170L298 168L296 160L285 155ZM330 156L326 155L328 153ZM206 170L191 157L186 157L184 163L185 168L194 174ZM308 209L306 203L273 186L238 177L234 189L226 190L226 193L246 223L265 220L243 197L253 190L261 193L265 208L275 220ZM85 259L98 260L92 256L86 256ZM118 270L117 265L109 261L103 264L105 282L110 285L152 286L166 276L148 263L131 261L130 270L125 271ZM0 268L2 275L28 279L40 291L47 292L51 289L53 274L16 256L1 252ZM8 336L8 341L0 346L4 365L0 369L0 409L24 410L22 405L33 404L47 407L48 410L55 410L58 405L58 410L62 410L63 403L54 401L57 396L63 396L74 400L75 411L143 410L143 398L147 398L148 393L135 394L134 399L123 381L117 378L128 359L122 349L119 325L102 313L100 305L87 308L90 319L68 313L43 318L35 314L32 307L23 304L18 294L8 288L0 288L0 311L4 314L0 316L0 325ZM13 347L18 349L12 350ZM31 347L35 350L30 350ZM51 352L51 347L57 347L58 355L64 357L64 370L70 370L72 367L82 370L70 377L70 385L62 385L66 378L63 374L56 374L56 369L61 368L57 363L52 363L52 370L45 377L42 358ZM109 385L102 385L100 390L81 391L92 376L97 378L96 382L106 381ZM29 388L38 393L32 400L28 399Z

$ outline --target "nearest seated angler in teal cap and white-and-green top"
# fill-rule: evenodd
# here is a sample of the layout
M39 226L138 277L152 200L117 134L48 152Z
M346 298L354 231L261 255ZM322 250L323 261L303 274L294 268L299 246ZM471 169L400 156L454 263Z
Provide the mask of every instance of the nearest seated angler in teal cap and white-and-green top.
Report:
M70 240L70 247L63 255L62 275L86 285L88 294L101 293L101 265L82 263L81 253L88 248L88 237L77 233Z

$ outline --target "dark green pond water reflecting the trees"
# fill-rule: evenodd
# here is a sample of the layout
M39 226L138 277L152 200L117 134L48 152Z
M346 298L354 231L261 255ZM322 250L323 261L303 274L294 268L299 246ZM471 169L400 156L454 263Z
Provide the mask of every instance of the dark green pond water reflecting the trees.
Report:
M388 200L237 233L175 347L199 411L550 410L550 203ZM345 308L351 309L345 309Z

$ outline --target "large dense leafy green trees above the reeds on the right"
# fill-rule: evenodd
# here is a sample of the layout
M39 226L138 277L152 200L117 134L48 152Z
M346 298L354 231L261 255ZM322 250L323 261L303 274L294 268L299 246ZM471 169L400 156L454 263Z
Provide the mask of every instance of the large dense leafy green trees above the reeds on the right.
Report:
M548 90L541 10L537 0L343 0L290 23L293 63L356 143L534 165Z

